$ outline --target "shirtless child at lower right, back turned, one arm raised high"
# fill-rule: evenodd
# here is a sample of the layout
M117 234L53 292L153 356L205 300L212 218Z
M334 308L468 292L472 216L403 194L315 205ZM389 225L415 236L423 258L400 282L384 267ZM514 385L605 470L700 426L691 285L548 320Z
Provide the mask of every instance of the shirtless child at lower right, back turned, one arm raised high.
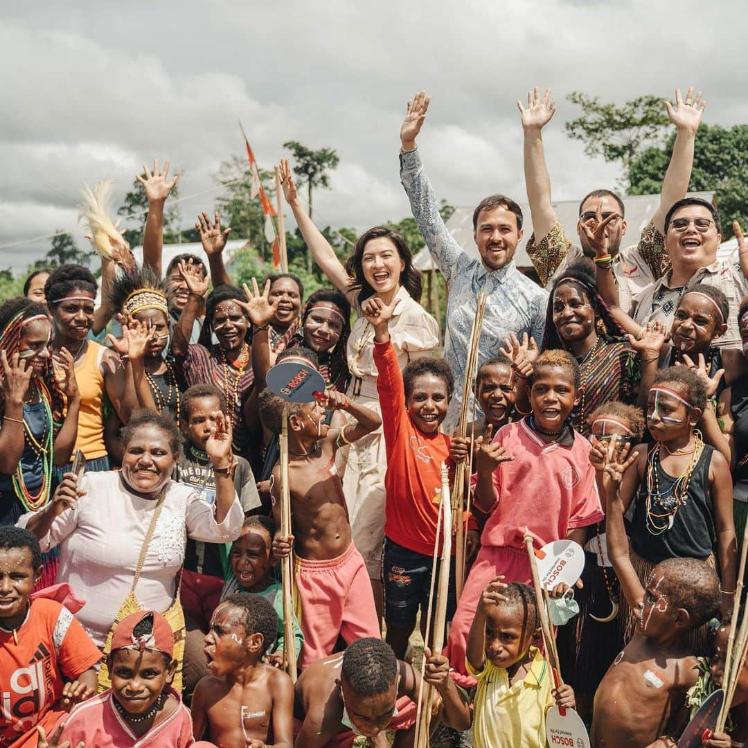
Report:
M605 469L607 548L637 628L595 694L592 746L665 748L687 724L685 694L699 675L687 636L719 611L720 582L705 561L674 558L658 563L642 587L618 491L636 456L628 457L628 445L616 451L611 444Z

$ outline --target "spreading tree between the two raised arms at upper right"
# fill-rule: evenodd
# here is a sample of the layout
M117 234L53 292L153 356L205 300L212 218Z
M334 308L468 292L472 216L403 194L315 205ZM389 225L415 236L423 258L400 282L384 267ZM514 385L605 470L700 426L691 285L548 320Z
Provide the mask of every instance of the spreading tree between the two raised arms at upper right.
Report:
M565 124L566 134L584 144L587 156L620 161L624 186L628 188L631 162L644 147L661 144L663 140L668 119L662 99L646 94L616 106L580 91L572 91L566 98L583 112L581 117Z

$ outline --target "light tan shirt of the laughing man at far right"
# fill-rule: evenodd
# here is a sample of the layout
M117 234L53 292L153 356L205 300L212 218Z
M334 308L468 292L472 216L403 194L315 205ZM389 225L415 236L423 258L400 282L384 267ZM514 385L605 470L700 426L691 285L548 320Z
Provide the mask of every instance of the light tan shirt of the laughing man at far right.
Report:
M714 260L714 263L699 268L685 286L671 288L669 286L671 272L666 273L657 281L634 297L634 312L632 316L640 325L647 322L663 322L666 330L670 330L675 309L678 307L681 295L686 289L693 288L696 283L708 283L717 286L727 297L730 313L727 318L727 331L722 337L714 340L715 346L733 348L741 346L741 331L738 326L738 308L741 298L748 295L748 281L741 271L741 266L735 260Z

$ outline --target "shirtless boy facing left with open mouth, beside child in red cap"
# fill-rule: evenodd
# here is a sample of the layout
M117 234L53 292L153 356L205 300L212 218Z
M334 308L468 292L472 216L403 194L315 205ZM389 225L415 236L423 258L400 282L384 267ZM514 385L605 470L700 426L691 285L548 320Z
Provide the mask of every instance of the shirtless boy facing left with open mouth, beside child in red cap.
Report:
M210 675L192 696L194 738L206 726L219 748L291 748L293 684L263 662L278 635L278 616L260 595L237 592L213 613L205 637Z

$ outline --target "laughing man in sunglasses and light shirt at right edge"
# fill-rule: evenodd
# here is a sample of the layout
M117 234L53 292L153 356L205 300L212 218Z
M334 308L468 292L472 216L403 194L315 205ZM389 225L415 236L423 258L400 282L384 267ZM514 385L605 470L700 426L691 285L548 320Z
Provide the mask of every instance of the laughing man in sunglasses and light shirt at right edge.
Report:
M681 295L696 283L710 283L723 291L730 306L727 331L713 344L720 348L741 346L738 309L748 295L748 251L741 242L738 262L734 258L717 260L720 242L722 224L717 209L700 197L678 200L665 217L665 247L672 268L634 299L634 320L640 325L663 322L669 330Z

